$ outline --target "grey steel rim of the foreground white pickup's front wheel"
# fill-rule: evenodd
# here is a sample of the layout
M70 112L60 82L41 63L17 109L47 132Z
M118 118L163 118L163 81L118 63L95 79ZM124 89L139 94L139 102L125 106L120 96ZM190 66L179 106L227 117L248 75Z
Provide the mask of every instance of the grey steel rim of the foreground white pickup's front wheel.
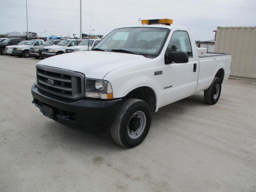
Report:
M146 120L146 115L142 111L138 111L132 115L132 117L129 119L127 127L128 136L131 139L137 139L141 136L146 127ZM134 127L135 124L136 128Z

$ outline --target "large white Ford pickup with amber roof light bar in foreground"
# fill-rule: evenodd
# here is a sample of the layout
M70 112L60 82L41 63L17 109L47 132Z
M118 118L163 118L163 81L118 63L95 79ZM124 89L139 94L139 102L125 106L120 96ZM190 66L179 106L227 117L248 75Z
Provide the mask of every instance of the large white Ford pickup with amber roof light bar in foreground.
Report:
M231 55L198 51L189 29L171 23L142 20L115 29L91 51L40 61L32 103L63 125L105 127L127 148L146 138L151 113L162 106L202 91L207 104L216 104Z

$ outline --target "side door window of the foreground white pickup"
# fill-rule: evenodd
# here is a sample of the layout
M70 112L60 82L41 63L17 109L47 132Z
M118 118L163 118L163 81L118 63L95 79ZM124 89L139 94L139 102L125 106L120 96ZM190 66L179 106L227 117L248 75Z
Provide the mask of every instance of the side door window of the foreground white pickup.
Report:
M176 31L169 42L168 52L182 51L193 57L189 35L186 31Z

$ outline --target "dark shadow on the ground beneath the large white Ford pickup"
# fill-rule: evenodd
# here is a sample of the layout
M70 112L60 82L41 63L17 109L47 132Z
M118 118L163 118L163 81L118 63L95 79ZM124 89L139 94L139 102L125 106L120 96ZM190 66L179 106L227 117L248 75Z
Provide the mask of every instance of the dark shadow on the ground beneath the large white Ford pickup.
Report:
M156 125L159 122L164 122L166 119L174 119L177 116L186 114L188 109L191 110L193 107L202 106L208 106L203 102L203 96L193 95L189 98L169 104L168 106L161 107L157 113L152 114L151 129L157 132ZM171 125L168 124L168 126ZM54 143L57 147L77 152L116 152L129 150L118 146L113 141L110 132L103 132L99 134L81 132L61 125L50 119L47 119L47 122L45 122L41 133L43 134L41 137L49 139L49 142L52 142L51 140L54 139Z

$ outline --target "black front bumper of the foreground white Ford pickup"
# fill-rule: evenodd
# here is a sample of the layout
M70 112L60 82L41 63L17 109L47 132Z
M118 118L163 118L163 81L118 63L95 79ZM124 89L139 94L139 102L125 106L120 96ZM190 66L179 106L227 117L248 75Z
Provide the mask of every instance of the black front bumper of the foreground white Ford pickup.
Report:
M45 93L37 88L36 82L31 88L33 103L42 112L42 106L53 109L55 121L83 132L102 132L111 125L121 106L122 99L102 100L84 98L80 100L63 99Z

